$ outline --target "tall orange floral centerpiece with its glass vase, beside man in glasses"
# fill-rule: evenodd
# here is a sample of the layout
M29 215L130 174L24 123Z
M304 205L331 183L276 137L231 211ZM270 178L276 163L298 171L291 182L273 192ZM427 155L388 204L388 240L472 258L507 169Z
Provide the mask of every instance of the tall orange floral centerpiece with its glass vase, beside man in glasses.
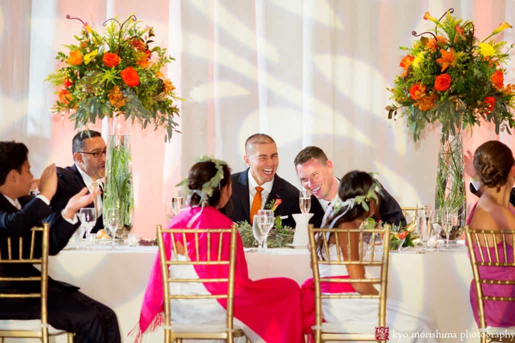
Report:
M82 29L74 35L76 44L57 53L61 66L47 78L58 93L52 111L70 113L75 129L109 118L103 207L118 208L117 234L123 237L133 222L131 124L164 128L165 141L178 132L182 99L161 71L174 59L166 49L150 47L153 28L143 27L134 15L123 22L107 20L103 34L78 18L66 18L80 21Z

